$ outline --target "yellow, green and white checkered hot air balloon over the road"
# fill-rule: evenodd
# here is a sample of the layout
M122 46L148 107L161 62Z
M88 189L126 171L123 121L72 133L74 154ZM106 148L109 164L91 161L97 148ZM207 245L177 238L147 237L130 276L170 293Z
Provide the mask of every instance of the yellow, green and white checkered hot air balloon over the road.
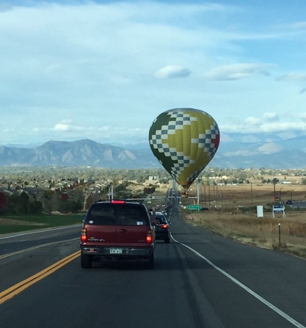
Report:
M215 120L193 108L167 110L153 121L149 130L152 153L185 190L210 162L219 141Z

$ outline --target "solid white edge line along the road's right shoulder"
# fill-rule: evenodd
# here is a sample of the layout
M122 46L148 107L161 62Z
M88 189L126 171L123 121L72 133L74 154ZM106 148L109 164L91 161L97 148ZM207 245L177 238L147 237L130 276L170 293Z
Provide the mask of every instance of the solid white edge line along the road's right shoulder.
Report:
M236 283L238 286L240 286L241 288L243 288L245 291L247 291L249 294L251 294L252 296L254 296L255 298L257 298L260 302L264 303L265 305L267 305L270 309L272 309L273 311L275 311L277 314L279 314L280 316L282 316L283 318L285 318L286 320L288 320L290 323L292 323L293 325L295 325L298 328L306 328L305 326L303 326L301 323L297 322L296 320L294 320L293 318L291 318L288 314L286 314L285 312L282 312L281 310L279 310L278 308L276 308L275 305L273 305L272 303L268 302L265 298L261 297L260 295L256 294L255 292L253 292L250 288L248 288L246 285L244 285L243 283L241 283L240 281L238 281L237 279L235 279L234 277L232 277L231 275L229 275L227 272L225 272L224 270L220 269L219 267L217 267L214 263L212 263L208 258L206 258L205 256L203 256L202 254L200 254L199 252L195 251L194 249L192 249L191 247L189 247L186 244L183 244L182 242L176 240L173 238L173 236L171 235L171 238L181 244L182 246L186 247L187 249L189 249L191 252L193 252L195 255L201 257L203 260L205 260L208 264L210 264L214 269L216 269L217 271L221 272L223 275L225 275L227 278L231 279L234 283Z

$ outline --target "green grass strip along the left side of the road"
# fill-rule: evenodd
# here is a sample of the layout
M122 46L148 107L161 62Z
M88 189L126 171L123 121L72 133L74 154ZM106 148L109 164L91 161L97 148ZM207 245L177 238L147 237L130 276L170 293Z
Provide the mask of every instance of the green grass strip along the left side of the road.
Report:
M70 226L77 223L81 224L81 216L77 214L3 215L0 216L0 236L20 231Z

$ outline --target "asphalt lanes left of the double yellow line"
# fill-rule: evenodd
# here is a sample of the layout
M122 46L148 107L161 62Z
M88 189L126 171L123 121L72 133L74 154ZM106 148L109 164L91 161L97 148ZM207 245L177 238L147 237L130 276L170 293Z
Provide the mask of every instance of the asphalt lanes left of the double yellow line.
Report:
M79 250L80 229L76 225L1 236L0 292Z

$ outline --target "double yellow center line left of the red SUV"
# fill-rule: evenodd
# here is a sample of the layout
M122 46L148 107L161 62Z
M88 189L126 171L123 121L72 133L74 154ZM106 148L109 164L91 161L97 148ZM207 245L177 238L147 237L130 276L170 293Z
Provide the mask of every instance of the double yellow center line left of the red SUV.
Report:
M80 252L81 251L77 251L77 252L63 258L62 260L50 265L50 267L43 269L42 271L36 273L35 275L33 275L23 281L20 281L20 282L16 283L15 285L13 285L12 287L10 287L9 289L1 292L0 293L0 304L3 304L10 298L21 293L22 291L24 291L25 289L27 289L28 287L30 287L31 285L36 283L37 281L51 275L53 272L62 268L65 264L73 261L74 259L76 259L77 257L80 256Z

